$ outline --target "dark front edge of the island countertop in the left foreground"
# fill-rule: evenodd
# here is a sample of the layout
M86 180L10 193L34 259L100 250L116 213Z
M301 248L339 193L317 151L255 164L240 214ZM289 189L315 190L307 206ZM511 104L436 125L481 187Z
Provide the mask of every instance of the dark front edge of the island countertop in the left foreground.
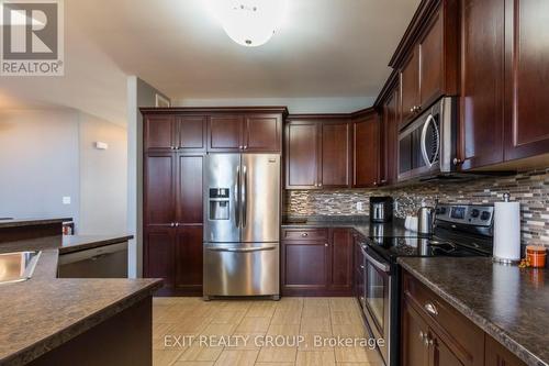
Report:
M98 310L97 312L79 320L70 326L57 333L51 334L26 348L22 348L16 353L13 353L3 359L0 359L0 364L10 366L25 365L38 358L48 351L52 351L53 348L67 343L71 339L100 324L104 320L124 311L131 306L145 299L147 296L153 295L154 291L161 287L161 279L150 279L149 281L150 284L146 285L144 288L137 290L136 292L126 296L101 310Z

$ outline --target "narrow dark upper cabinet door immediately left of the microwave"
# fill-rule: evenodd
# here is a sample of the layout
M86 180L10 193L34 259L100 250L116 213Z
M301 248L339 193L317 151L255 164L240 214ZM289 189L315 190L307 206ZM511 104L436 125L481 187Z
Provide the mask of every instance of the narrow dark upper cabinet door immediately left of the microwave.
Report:
M399 177L397 159L399 159L399 90L395 89L390 93L388 100L383 104L383 158L382 164L383 175L380 180L381 185L392 185L396 182Z

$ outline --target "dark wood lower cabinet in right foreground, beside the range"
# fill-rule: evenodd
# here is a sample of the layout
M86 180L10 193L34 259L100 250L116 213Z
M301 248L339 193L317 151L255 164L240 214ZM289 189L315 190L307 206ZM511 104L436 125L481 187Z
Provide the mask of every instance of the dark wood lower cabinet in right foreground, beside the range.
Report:
M406 271L402 285L403 366L525 365Z

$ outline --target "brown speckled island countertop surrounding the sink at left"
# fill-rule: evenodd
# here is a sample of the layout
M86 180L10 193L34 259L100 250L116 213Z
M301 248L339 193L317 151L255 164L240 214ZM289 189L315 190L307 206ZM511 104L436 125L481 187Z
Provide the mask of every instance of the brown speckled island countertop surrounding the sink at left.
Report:
M1 243L1 252L41 249L33 277L0 285L0 364L24 365L157 290L158 279L56 278L64 251L127 241L132 236L59 236Z

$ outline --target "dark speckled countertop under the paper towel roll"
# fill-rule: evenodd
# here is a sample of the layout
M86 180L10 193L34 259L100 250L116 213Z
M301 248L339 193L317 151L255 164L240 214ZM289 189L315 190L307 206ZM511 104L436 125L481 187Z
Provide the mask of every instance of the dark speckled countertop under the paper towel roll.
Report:
M399 258L404 269L528 365L549 365L549 270L491 258Z

